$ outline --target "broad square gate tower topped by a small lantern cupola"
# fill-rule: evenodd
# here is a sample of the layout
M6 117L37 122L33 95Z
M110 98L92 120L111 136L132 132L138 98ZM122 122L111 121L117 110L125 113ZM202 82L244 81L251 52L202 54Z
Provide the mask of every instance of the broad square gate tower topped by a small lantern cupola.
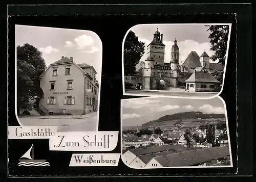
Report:
M154 60L154 65L164 65L164 48L163 34L157 31L153 35L153 40L147 45L146 53L148 60ZM148 63L147 63L148 64Z

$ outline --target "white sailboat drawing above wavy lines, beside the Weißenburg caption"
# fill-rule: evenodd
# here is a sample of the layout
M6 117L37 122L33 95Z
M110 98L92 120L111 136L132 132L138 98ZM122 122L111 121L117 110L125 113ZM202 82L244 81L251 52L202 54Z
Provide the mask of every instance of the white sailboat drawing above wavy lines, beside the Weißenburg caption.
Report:
M32 151L32 156L31 156L31 151ZM22 157L19 159L18 165L19 166L50 166L50 164L46 162L46 160L34 159L34 144L32 144L29 150L22 155Z

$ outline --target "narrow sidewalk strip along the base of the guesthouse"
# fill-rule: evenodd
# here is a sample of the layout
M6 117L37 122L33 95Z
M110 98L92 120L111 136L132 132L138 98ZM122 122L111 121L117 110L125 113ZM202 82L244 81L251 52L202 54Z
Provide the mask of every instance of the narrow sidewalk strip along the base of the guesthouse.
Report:
M33 118L33 119L84 119L97 117L97 112L86 113L86 115L47 115L47 116L18 116L18 118Z

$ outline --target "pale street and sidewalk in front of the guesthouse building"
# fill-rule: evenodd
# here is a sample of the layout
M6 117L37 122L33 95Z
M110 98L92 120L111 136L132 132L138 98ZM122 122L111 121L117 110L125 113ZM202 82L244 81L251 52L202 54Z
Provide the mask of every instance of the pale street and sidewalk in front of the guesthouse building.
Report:
M86 115L19 116L23 126L58 126L58 132L97 131L97 112Z

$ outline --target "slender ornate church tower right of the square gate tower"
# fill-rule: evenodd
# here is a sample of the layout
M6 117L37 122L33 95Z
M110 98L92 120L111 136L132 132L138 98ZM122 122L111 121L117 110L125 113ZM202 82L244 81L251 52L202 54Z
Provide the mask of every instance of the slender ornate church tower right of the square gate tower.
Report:
M179 77L179 61L180 61L180 51L177 45L177 40L175 38L174 45L172 46L172 51L170 53L170 68L173 70L173 77Z

